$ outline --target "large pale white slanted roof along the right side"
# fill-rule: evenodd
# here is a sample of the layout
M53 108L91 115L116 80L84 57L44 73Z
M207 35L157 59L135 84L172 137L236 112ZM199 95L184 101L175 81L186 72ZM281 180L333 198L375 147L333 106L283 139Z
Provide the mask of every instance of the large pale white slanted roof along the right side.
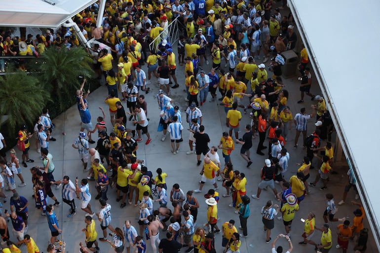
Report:
M288 0L353 169L378 248L379 0ZM362 8L362 9L363 9Z

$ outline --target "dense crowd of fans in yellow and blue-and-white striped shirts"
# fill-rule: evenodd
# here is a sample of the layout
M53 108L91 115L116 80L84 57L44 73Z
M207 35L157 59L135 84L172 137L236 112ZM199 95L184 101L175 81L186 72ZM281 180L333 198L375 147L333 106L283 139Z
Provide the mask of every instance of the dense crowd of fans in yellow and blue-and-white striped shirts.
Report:
M33 199L40 214L47 217L51 231L47 248L49 253L65 250L65 243L59 238L62 230L54 212L54 207L61 203L54 195L52 187L62 187L62 202L70 206L67 217L76 215L78 210L75 199L81 200L80 207L85 214L85 228L82 230L85 233L85 243L80 244L82 253L99 252L98 240L109 242L116 253L123 252L124 248L127 253L131 250L145 253L147 240L150 240L153 253L157 252L157 248L160 253L176 253L181 248L187 248L186 253L212 253L216 252L214 240L218 233L222 234L222 247L225 252L239 253L241 240L248 237L251 198L259 200L262 190L268 187L273 191L273 200L277 200L278 204L268 200L261 209L267 244L272 240L271 230L274 228L275 216L284 224L284 233L279 234L272 242L272 252L283 251L282 247L275 247L280 238L288 241L288 252L291 252L291 238L301 239L302 236L300 245L310 244L315 246L315 250L328 253L334 245L331 228L335 225L331 222L340 222L336 228L336 247L342 248L343 253L347 251L349 241L356 237L358 241L354 249L359 253L366 250L368 229L364 228L365 213L362 205L352 202L359 206L353 212L355 217L352 226L348 217L334 217L337 208L334 196L328 188L329 177L334 173L334 151L331 143L334 127L325 99L310 93L312 76L307 67L308 56L304 47L300 52L298 66L301 91L301 100L298 103L304 103L304 93L310 96L313 104L307 110L311 113L308 114L303 107L293 116L287 106L289 92L284 89L285 83L281 78L281 66L284 65L281 53L285 50L296 50L297 35L294 32L295 22L292 15L281 14L286 4L279 8L274 8L272 0L115 0L106 1L105 4L101 27L95 25L99 9L97 3L73 18L85 38L95 38L94 48L89 50L94 58L94 69L98 78L103 81L104 77L108 89L104 102L108 105L110 114L106 116L104 109L99 107L100 116L96 118L95 126L91 113L96 112L94 108L90 112L86 100L91 91L83 91L85 79L76 90L81 128L78 129L78 136L73 140L72 147L77 149L83 172L87 176L82 179L78 179L76 175L65 175L57 180L54 178L55 166L49 145L51 141L55 141L55 125L50 119L48 108L41 112L33 134L28 132L27 125L20 127L17 148L22 151L22 161L19 162L14 149L10 151L10 161L7 161L4 151L6 142L0 134L0 198L3 198L4 203L7 201L7 195L1 190L4 184L13 194L10 198L10 213L4 212L4 218L0 217L0 233L3 239L1 244L8 246L4 250L19 253L18 247L26 244L28 253L39 252L33 238L26 234L29 202L17 193L15 183L17 175L21 181L18 186L26 186L20 166L28 167L35 162L29 158L32 140L36 141L36 150L40 153L43 164L42 167L30 168ZM168 42L171 36L168 26L171 22L180 23L177 53L174 52L175 45ZM5 32L2 34L4 40L0 41L0 50L2 48L1 52L5 55L37 56L43 54L43 49L49 46L79 46L75 33L63 27L56 33L47 30L45 36L36 36L37 40L29 35L27 38L11 39ZM154 47L149 50L152 42ZM108 50L104 45L111 49ZM184 65L184 68L178 68L176 73L177 63ZM143 70L142 66L145 64L147 68ZM205 72L207 65L212 66L208 73ZM147 69L148 78L145 72ZM272 76L268 76L266 69L273 72ZM0 71L3 70L0 68ZM158 87L151 82L152 73ZM176 74L186 76L185 83L180 83ZM170 86L173 82L174 85ZM170 89L180 86L186 92L182 99L188 102L187 108L183 108L185 113L181 113L178 106L180 101L170 98ZM156 176L153 177L147 161L139 159L139 143L143 142L144 135L145 145L158 141L152 139L148 131L150 118L144 96L144 93L148 94L153 89L158 89L156 99L159 110L151 112L159 115L158 131L162 131L162 137L158 140L165 142L169 133L168 148L171 148L173 155L183 155L185 153L180 153L180 150L185 147L181 142L185 136L189 136L189 150L186 154L195 153L196 166L201 166L197 189L181 189L181 182L175 181L172 186L169 185L168 190L168 174L164 172L165 169L157 168ZM207 103L209 92L211 104ZM209 147L212 141L207 131L212 130L205 129L202 124L208 120L203 117L202 108L212 106L224 108L228 132L221 133L221 139L217 140L218 145ZM244 128L240 127L243 117L250 119L250 124L244 125ZM308 121L315 122L314 131L307 129ZM107 129L110 123L112 129ZM291 145L294 150L299 149L298 139L302 133L302 148L305 153L303 162L298 164L300 167L296 175L288 170L291 145L286 145L293 123L295 141ZM241 132L242 136L239 136ZM96 133L97 137L94 136ZM36 138L32 139L34 135ZM254 155L258 156L255 159L267 156L262 165L253 164L250 152L257 137L259 140ZM323 146L322 142L326 144ZM234 150L238 146L247 168L252 165L262 167L261 173L256 175L261 179L257 193L251 197L247 195L249 179L245 176L244 169L233 168L231 154L237 152ZM222 162L218 149L223 154ZM266 149L267 154L264 152ZM320 156L318 151L322 151L323 155ZM315 162L314 157L320 162ZM308 182L310 170L314 169L313 159L318 173L314 181ZM347 185L339 205L345 203L350 188L356 190L355 179L350 170L347 176ZM323 182L320 190L327 192L325 212L319 216L310 212L308 217L302 218L304 233L300 236L291 235L291 224L297 211L308 208L301 205L301 202L308 197L309 186L316 187L319 180ZM201 200L196 193L203 192L207 181L213 187L205 191L204 199ZM225 194L218 192L218 181L226 189ZM116 191L110 194L109 189L112 188ZM99 210L93 210L90 205L93 194L99 201ZM53 205L48 205L48 198L54 200ZM126 202L138 207L138 222L126 220L122 225L114 224L112 207L107 202L109 198L115 198L121 209L127 206ZM358 198L356 190L355 199ZM234 219L218 223L220 201L228 201L229 207L234 209L233 213L238 215L238 229L241 233L238 232ZM154 202L158 202L158 207L157 204L153 206ZM196 223L200 203L207 205L205 224ZM12 221L15 242L10 241L5 220L8 217ZM316 225L315 217L323 218L324 224ZM97 223L102 230L100 238L97 234ZM318 233L316 230L322 232L320 241L315 237L312 240L313 235ZM108 234L108 231L112 233ZM166 232L162 240L160 231Z

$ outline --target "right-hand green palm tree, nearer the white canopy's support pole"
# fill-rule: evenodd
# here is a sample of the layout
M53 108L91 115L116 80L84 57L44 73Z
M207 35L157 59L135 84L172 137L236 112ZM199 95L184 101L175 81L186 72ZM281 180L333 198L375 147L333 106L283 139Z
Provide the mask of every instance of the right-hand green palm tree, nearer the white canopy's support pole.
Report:
M81 82L79 76L87 79L92 76L92 60L82 47L70 50L65 47L59 50L48 48L43 56L45 64L39 66L39 78L63 110L68 101L72 102L71 98L75 97Z

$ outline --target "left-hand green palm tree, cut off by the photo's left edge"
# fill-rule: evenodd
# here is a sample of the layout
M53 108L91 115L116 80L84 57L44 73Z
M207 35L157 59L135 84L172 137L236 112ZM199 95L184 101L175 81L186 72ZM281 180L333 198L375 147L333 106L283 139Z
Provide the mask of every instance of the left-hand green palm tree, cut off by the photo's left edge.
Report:
M22 123L33 124L42 111L50 93L37 77L26 72L14 71L0 77L0 119L8 116L10 128Z

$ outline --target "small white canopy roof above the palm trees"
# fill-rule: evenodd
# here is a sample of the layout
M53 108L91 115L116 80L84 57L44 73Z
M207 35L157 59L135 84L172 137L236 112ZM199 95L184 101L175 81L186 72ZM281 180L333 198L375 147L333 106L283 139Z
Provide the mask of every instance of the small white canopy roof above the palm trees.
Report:
M0 26L46 27L60 26L96 0L2 0ZM53 5L53 3L55 3Z

